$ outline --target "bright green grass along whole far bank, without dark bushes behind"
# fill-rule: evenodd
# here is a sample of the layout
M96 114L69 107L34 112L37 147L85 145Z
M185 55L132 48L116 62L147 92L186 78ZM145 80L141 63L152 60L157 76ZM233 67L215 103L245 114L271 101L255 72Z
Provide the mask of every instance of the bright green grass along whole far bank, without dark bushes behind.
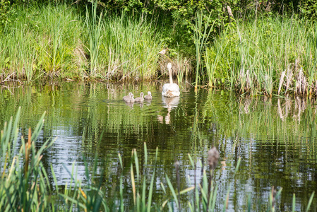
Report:
M172 36L166 33L168 25L145 16L97 14L94 6L80 13L76 6L62 4L16 9L16 20L0 30L2 81L7 76L29 82L56 76L152 80L169 61L157 54L167 45L163 40ZM206 26L196 28L203 32ZM178 44L169 49L176 55L172 60L179 81L191 74L189 66L196 58L196 85L251 95L315 95L316 34L316 24L295 16L232 18L218 35L196 33L196 47L192 45L187 55L180 53Z

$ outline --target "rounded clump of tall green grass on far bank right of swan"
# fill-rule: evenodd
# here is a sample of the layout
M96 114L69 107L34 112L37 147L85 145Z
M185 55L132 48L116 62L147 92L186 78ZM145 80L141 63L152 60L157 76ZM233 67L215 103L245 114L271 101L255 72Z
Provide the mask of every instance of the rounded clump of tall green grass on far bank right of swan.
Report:
M205 50L210 86L265 95L316 93L317 26L298 18L232 22Z

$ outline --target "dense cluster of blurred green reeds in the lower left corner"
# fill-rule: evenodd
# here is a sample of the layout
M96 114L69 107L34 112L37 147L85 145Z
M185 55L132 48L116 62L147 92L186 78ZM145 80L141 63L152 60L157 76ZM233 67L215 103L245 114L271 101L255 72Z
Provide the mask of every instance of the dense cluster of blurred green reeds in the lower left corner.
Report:
M35 148L44 122L44 114L34 131L28 131L28 142L21 138L18 146L18 119L20 108L13 122L11 117L1 131L0 151L0 209L1 211L37 211L49 207L49 179L41 158L53 141L47 140Z

